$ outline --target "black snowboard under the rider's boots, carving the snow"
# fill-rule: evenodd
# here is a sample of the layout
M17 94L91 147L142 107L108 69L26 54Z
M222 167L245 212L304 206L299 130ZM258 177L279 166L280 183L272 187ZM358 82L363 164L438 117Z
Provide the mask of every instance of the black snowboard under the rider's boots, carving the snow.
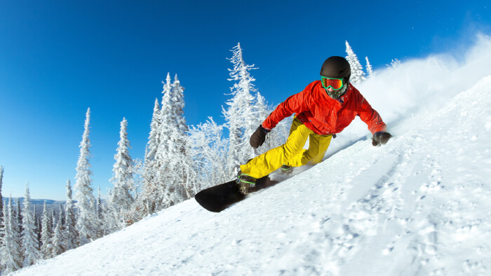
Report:
M278 184L279 181L269 179L268 176L256 180L257 191ZM235 180L224 184L206 188L194 195L194 199L203 208L210 212L222 212L229 206L246 198L239 190Z

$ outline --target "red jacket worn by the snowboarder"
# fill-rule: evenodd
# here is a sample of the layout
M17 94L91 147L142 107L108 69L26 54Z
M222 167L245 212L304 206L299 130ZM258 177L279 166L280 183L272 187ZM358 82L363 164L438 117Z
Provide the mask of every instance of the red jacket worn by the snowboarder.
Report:
M360 116L372 134L386 130L386 125L379 113L372 109L372 106L351 83L341 99L343 103L332 99L325 92L321 81L314 81L302 92L288 97L285 102L279 104L264 120L262 127L271 130L284 118L297 113L296 117L316 134L342 132L356 116Z

